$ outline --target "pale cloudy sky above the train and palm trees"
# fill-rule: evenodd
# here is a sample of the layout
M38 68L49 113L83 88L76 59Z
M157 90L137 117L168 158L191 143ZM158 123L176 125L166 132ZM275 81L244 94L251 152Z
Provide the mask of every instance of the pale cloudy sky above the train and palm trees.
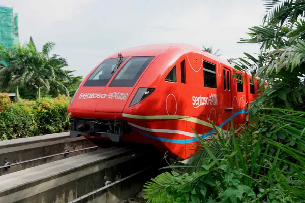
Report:
M19 15L20 42L32 36L41 50L67 58L75 75L121 49L158 43L186 43L220 49L221 58L258 53L256 44L238 44L261 24L262 0L2 0Z

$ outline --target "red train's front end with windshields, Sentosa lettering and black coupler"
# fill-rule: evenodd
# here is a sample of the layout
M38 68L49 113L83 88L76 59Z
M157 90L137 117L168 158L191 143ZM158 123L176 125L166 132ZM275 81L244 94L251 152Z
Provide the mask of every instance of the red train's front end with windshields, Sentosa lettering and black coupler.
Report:
M134 50L123 51L105 59L88 74L68 107L71 137L114 142L124 141L124 137L130 139L128 135L132 130L128 120L123 118L124 109L130 111L155 90L150 85L152 77L142 77L162 50L156 47L148 50L148 54L138 52L134 55L131 54ZM138 84L140 80L145 80L146 85L140 87L143 84Z

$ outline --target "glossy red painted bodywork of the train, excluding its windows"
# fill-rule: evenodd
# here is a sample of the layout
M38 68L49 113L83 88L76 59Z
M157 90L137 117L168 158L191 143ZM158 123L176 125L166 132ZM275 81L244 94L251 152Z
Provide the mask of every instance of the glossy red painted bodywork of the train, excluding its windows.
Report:
M185 44L160 44L129 48L120 51L128 57L112 75L105 87L83 86L80 84L72 104L68 107L71 118L98 118L125 120L132 128L131 134L124 134L123 142L148 143L162 152L170 151L172 157L187 158L193 151L185 150L198 140L194 128L203 138L213 133L210 121L223 129L230 128L233 119L236 129L246 121L247 104L258 97L258 79L254 80L254 94L250 93L251 76L233 69L232 65L220 58ZM118 52L108 58L117 58ZM109 87L120 68L132 56L154 56L133 87ZM107 59L108 59L107 58ZM203 60L215 64L217 88L204 86ZM185 61L185 83L181 80L181 62ZM176 66L176 82L165 81ZM224 71L230 75L224 88ZM243 92L237 91L236 77L243 75ZM155 88L147 98L129 107L139 87ZM128 94L126 99L89 98L80 95L120 92ZM227 109L227 110L226 110ZM192 127L192 128L191 128ZM85 136L89 139L89 136ZM99 138L99 137L95 137Z

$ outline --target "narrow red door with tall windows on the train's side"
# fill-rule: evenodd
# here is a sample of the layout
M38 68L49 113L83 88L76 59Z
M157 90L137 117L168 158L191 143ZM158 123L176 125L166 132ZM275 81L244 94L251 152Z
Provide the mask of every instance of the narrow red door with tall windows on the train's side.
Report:
M231 70L224 67L224 107L226 111L233 110L232 98L231 98Z

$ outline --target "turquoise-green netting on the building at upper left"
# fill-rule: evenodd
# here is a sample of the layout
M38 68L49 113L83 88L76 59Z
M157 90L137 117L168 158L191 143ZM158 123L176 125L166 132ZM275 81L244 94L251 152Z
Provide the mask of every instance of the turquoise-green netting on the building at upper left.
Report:
M18 15L12 7L0 6L0 46L8 49L18 41Z

